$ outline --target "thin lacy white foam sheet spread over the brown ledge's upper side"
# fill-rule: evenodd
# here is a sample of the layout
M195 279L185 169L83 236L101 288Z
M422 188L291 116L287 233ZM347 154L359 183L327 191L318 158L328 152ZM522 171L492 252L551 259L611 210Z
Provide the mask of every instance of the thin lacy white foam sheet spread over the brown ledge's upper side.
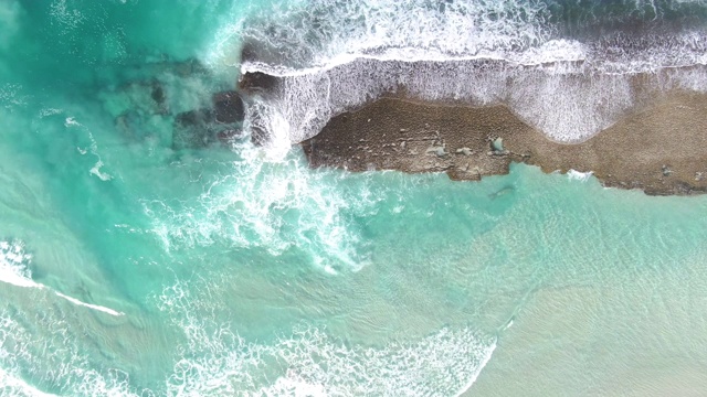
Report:
M327 72L283 77L274 97L249 106L250 122L275 142L317 135L334 116L404 86L424 100L507 104L558 141L585 140L637 99L629 76L564 73L488 62L379 62L359 58ZM611 98L609 100L608 98ZM278 120L276 126L273 120Z

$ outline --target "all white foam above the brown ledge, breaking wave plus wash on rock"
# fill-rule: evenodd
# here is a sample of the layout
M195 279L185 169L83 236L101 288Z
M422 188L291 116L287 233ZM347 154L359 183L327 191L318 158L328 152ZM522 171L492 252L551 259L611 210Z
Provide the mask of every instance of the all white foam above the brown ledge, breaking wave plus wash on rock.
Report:
M652 88L707 92L707 73L684 67L707 64L704 29L563 37L546 6L293 2L224 28L210 61L234 58L240 45L232 37L239 37L249 46L243 73L282 77L274 97L246 110L251 125L281 147L315 136L331 117L401 86L425 100L506 104L563 142L589 139L645 100L632 87L636 73L674 68L656 76ZM636 14L648 6L636 1ZM679 7L666 2L656 10L685 12Z

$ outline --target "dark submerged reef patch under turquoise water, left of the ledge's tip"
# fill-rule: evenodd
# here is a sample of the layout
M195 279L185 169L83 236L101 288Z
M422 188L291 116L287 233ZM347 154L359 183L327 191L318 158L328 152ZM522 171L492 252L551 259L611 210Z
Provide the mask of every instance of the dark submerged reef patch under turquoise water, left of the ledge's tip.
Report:
M159 141L180 151L228 147L245 137L243 95L198 61L156 62L120 72L129 83L99 95L126 139Z

